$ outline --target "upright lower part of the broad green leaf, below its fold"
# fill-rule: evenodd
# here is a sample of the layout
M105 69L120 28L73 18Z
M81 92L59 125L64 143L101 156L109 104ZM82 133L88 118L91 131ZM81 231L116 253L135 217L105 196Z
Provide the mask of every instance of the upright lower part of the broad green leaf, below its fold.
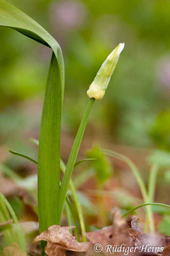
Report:
M59 224L61 91L57 60L52 55L41 117L38 150L39 230Z

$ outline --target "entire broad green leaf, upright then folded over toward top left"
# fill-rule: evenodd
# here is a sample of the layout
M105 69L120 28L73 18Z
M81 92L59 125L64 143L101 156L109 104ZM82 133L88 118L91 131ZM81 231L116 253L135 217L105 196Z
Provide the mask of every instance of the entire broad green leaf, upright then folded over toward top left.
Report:
M0 26L8 27L51 47L53 50L41 117L38 154L39 230L60 224L60 122L64 97L64 61L55 39L15 6L0 0Z

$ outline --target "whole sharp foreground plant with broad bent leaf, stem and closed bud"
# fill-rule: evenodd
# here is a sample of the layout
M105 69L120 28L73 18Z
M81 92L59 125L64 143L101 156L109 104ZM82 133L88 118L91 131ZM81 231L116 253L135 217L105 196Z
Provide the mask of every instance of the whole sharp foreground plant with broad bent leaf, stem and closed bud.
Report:
M85 232L83 214L76 197L76 190L71 181L71 174L76 164L76 157L78 156L92 105L95 99L103 98L110 77L117 65L120 52L124 49L124 44L118 45L111 52L97 73L94 82L90 85L87 92L90 100L76 134L69 159L66 166L64 166L64 163L60 159L60 127L64 98L64 61L60 46L37 22L4 0L0 0L0 26L15 29L36 42L52 49L39 132L38 162L32 160L30 157L26 158L32 160L34 163L38 163L39 232L43 232L51 225L60 225L65 201L68 203L66 197L67 189L70 186L78 209L83 241L85 241L83 235L83 232ZM17 153L13 152L13 154ZM24 155L20 154L20 156ZM60 168L64 172L61 181ZM66 209L68 212L70 209L69 204L67 204ZM42 248L44 246L45 244L42 243Z

